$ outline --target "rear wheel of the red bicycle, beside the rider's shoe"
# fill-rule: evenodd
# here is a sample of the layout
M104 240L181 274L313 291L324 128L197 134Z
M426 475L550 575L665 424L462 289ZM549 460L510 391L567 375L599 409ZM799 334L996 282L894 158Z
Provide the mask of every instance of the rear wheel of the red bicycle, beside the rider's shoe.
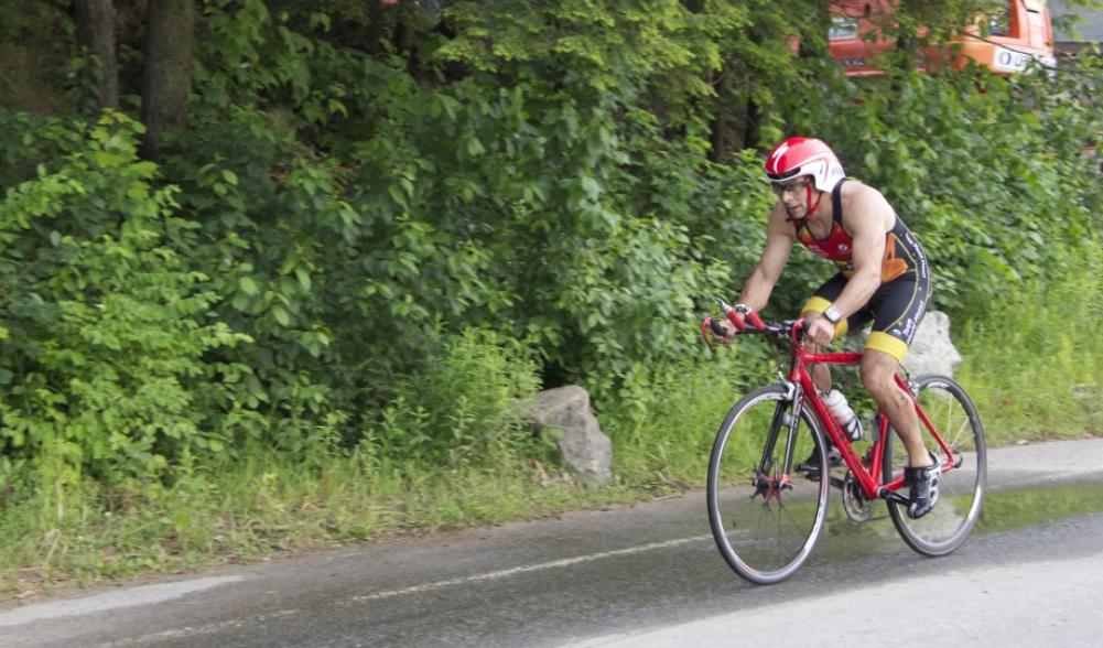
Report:
M915 552L938 557L957 549L981 517L987 453L981 416L964 387L947 376L935 374L922 375L914 384L915 399L961 466L941 475L939 500L922 518L909 518L907 504L891 500L887 503L900 538ZM944 460L941 452L931 447L933 439L925 428L923 435L928 449L934 452L939 460ZM899 475L907 460L908 454L899 435L889 427L884 449L884 480L888 482Z

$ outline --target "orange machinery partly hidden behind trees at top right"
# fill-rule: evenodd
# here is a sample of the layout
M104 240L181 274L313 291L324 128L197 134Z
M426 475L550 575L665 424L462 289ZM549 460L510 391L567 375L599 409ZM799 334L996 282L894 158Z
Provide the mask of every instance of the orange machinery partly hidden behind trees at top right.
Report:
M843 65L847 76L881 74L874 66L878 52L896 46L879 25L892 20L890 0L834 0L832 29L828 34L832 56ZM962 67L967 60L992 68L996 74L1015 74L1026 70L1031 60L1053 66L1053 30L1045 0L1009 0L1007 10L986 17L987 34L975 25L960 34L947 47L923 51L922 67L940 64ZM950 52L956 51L956 55Z

